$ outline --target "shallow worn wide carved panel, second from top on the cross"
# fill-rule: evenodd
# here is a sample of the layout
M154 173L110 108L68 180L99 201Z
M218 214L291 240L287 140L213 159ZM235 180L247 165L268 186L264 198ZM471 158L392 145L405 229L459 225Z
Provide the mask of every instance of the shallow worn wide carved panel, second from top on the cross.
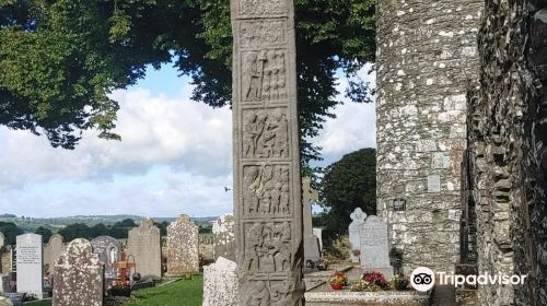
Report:
M284 44L283 21L242 21L240 44L244 49L261 49Z

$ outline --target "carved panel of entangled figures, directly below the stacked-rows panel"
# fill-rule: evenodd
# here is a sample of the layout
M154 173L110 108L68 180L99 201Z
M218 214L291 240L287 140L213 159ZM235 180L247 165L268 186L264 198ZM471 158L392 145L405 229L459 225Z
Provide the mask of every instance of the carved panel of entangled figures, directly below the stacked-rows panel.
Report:
M289 157L289 122L283 109L245 111L243 156Z

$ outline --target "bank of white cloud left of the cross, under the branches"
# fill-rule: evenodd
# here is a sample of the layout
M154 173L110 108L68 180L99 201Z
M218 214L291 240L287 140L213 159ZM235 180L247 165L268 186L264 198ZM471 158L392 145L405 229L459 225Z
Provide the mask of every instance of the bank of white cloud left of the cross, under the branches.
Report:
M142 174L163 164L201 175L231 172L231 111L183 97L151 96L142 89L116 92L116 132L123 141L84 132L75 150L54 149L44 137L0 129L0 186L22 187L51 179L107 179Z

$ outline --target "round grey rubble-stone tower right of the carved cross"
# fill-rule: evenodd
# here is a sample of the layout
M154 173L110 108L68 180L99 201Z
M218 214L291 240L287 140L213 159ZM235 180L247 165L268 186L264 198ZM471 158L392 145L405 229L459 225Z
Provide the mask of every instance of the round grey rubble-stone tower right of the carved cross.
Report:
M466 91L478 80L482 0L377 4L377 211L403 272L454 271ZM428 191L428 177L440 190ZM395 199L406 210L393 210Z

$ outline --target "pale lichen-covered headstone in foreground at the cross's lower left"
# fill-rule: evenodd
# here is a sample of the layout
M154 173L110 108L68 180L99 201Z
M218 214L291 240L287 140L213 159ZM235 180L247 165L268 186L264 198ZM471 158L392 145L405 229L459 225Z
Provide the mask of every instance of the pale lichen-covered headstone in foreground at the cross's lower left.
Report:
M202 306L238 306L237 272L234 261L219 257L203 267Z

